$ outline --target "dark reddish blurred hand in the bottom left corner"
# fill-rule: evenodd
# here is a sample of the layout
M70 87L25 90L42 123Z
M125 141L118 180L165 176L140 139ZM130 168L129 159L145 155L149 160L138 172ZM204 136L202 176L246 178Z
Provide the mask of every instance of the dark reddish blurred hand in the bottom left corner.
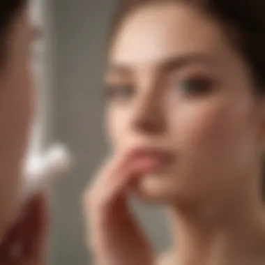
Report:
M47 205L44 195L30 199L22 214L0 243L1 265L45 264Z

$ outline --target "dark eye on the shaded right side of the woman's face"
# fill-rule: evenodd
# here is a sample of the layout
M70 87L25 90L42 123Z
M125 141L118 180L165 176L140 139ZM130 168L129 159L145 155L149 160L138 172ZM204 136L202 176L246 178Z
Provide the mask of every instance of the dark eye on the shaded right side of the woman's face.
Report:
M209 79L196 77L177 81L176 88L191 95L201 95L211 91L213 82Z

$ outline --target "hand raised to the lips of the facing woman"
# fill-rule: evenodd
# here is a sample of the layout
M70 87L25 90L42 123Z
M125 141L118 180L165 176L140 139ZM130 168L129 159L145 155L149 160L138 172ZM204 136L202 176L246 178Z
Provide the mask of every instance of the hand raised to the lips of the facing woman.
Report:
M99 265L153 264L151 245L127 203L126 190L137 177L129 162L126 153L108 162L84 197L87 239Z

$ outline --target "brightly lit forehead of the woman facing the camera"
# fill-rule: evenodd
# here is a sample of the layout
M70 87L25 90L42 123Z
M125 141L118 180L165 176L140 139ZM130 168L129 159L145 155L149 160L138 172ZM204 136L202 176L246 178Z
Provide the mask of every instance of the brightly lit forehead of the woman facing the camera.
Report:
M194 52L223 58L226 43L218 23L195 8L176 3L146 6L123 21L109 59L133 66Z

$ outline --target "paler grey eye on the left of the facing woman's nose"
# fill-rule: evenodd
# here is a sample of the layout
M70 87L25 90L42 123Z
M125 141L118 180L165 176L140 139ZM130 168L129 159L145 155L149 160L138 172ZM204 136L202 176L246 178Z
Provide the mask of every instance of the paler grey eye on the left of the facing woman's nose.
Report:
M128 100L135 93L135 89L131 85L116 85L107 88L108 100Z

